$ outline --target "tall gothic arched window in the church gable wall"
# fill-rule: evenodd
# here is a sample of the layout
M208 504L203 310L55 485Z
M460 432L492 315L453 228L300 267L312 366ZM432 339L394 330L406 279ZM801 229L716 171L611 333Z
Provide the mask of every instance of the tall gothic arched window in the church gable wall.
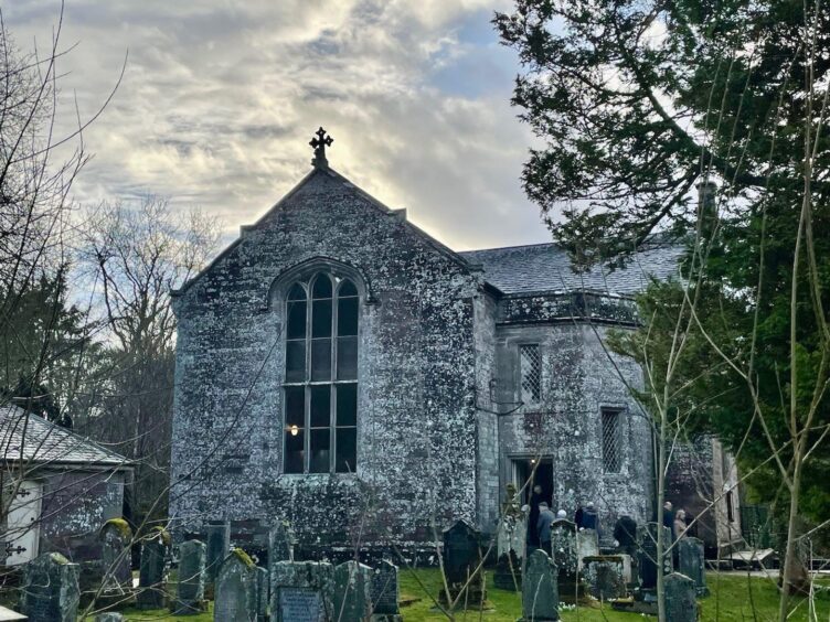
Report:
M286 299L284 473L349 473L358 459L358 288L317 272Z

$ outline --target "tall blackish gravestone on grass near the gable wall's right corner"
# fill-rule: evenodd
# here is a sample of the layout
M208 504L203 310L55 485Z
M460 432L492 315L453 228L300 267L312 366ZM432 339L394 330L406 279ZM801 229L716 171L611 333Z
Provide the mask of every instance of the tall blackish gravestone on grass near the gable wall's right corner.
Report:
M456 600L465 585L467 593L458 603L478 608L487 599L487 590L481 585L481 549L479 534L464 521L458 521L444 532L444 572L449 585L449 598ZM468 583L469 581L469 583ZM446 590L440 591L439 600L448 605Z

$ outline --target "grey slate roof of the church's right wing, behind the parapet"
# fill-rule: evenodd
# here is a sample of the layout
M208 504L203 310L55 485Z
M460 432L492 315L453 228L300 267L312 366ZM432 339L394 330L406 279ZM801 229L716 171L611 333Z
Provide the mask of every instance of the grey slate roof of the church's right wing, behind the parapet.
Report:
M631 296L646 288L650 278L664 280L677 275L679 247L638 253L622 269L595 267L576 274L567 253L555 244L510 246L459 253L470 264L480 264L485 279L507 294L596 291Z

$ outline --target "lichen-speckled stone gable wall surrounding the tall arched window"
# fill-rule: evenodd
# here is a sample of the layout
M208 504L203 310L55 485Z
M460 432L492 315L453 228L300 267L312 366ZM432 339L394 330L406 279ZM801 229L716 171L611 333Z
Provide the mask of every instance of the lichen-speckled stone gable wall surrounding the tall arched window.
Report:
M353 474L283 474L285 318L269 292L307 261L360 276ZM429 541L433 516L478 522L481 286L398 213L315 171L174 300L175 527L288 519L302 545L324 548Z

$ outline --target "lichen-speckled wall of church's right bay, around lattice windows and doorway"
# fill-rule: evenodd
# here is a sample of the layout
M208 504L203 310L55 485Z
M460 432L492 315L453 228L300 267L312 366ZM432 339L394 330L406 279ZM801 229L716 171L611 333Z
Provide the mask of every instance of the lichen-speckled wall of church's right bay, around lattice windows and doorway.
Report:
M501 315L504 318L504 315ZM501 481L513 481L514 460L551 460L554 511L573 516L576 504L594 502L602 538L608 541L617 516L638 522L650 517L651 440L647 419L631 398L626 380L642 386L635 362L603 348L608 329L585 321L508 323L497 329L499 392L504 410L521 399L519 345L536 343L542 355L542 398L500 417ZM615 368L616 364L616 368ZM620 409L621 469L607 473L603 462L604 407ZM522 482L518 482L522 483Z

